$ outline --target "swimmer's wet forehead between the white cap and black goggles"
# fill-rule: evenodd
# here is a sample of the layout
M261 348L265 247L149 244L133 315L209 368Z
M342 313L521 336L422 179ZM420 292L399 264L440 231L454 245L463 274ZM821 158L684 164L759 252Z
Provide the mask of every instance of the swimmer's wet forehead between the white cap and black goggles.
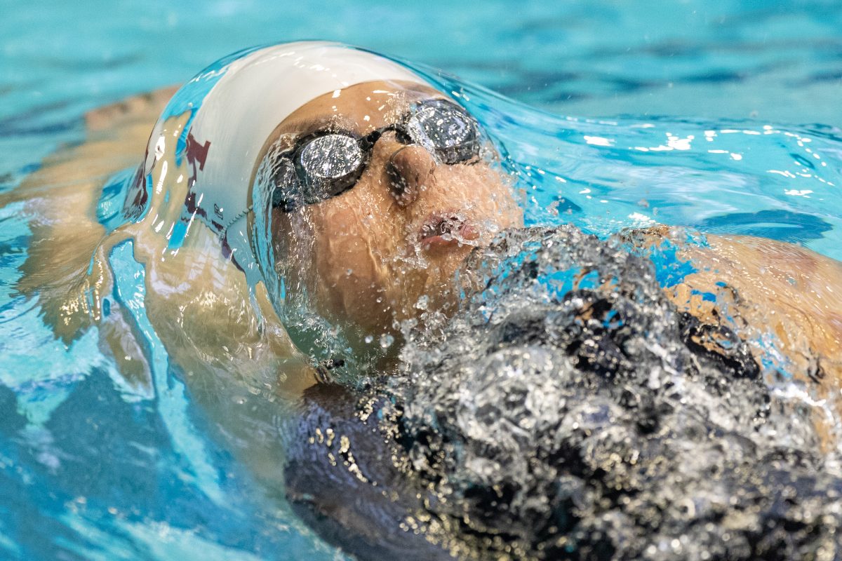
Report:
M445 98L445 95L433 87L413 82L363 82L305 103L280 123L278 132L306 134L335 128L364 135L394 124L413 103L433 98Z

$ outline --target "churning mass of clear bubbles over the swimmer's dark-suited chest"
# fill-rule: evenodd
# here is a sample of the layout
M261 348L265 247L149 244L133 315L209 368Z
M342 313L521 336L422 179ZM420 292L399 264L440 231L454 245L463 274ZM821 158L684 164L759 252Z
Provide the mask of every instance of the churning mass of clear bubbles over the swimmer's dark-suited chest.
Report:
M461 311L408 334L378 391L427 516L473 555L842 556L816 410L726 320L676 310L621 236L509 232L464 270Z

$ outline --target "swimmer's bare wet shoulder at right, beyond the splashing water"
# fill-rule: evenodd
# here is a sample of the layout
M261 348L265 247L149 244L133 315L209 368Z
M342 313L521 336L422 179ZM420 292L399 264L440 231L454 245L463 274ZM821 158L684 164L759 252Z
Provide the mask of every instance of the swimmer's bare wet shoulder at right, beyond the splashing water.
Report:
M692 264L695 273L665 288L679 309L710 320L713 304L699 294L722 294L733 299L732 312L747 325L774 334L800 368L842 382L842 262L755 236L706 234L704 243L685 243L689 231L659 225L624 232L621 239L638 249L672 242L674 258Z

